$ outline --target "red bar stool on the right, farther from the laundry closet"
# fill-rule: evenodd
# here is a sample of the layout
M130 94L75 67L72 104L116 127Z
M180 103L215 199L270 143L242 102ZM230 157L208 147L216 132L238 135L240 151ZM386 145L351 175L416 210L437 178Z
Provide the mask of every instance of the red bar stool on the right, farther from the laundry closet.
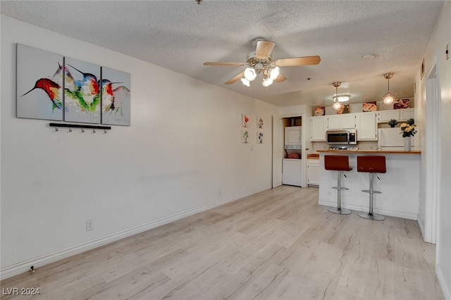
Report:
M362 189L362 192L369 193L369 213L359 213L359 217L376 221L385 220L383 215L373 213L373 194L381 194L381 192L373 189L374 175L387 172L385 169L385 156L357 156L357 172L369 173L369 189ZM381 179L378 177L378 180Z

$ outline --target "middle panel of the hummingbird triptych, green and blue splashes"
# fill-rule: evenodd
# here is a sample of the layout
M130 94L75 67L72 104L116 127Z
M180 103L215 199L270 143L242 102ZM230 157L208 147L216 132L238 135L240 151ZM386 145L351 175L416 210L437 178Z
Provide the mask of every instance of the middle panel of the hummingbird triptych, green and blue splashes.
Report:
M64 58L64 120L100 123L100 65Z

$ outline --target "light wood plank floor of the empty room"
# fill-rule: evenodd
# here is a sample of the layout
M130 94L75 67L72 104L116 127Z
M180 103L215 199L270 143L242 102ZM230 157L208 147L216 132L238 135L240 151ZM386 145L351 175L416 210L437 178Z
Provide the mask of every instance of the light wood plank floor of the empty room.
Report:
M443 299L416 221L328 213L282 186L1 282L3 299Z

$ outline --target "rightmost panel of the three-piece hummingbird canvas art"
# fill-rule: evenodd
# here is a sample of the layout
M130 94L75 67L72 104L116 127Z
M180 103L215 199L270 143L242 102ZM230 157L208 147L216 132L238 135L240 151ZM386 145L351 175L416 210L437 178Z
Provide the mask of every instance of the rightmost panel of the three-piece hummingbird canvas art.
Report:
M101 123L130 126L130 73L101 67Z

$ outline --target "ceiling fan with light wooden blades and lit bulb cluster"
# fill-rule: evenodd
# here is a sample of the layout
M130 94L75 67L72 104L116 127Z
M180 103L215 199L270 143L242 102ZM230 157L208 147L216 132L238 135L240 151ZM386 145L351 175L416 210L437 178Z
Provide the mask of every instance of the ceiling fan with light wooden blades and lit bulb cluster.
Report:
M245 63L221 63L221 62L206 62L204 65L247 65L246 70L236 75L226 82L230 85L238 80L241 80L243 85L250 86L258 74L263 74L262 85L268 87L273 82L283 82L287 78L280 74L279 67L287 67L292 65L317 65L321 61L319 56L304 56L292 58L278 58L273 59L271 52L276 46L276 43L266 41L263 37L257 37L252 40L252 45L256 46L255 51L249 52Z

